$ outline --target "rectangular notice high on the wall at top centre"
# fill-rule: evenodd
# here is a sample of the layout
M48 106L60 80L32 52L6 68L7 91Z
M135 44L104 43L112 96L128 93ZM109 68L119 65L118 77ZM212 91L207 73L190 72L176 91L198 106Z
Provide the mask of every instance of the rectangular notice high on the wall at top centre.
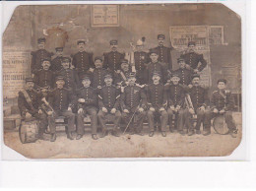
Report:
M119 27L118 5L92 5L92 27Z

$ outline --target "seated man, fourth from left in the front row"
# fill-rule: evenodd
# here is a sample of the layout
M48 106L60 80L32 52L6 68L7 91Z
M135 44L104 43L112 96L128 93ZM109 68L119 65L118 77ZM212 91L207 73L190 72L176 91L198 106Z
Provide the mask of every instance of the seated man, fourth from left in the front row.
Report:
M111 74L105 75L103 86L98 91L98 107L99 111L97 113L98 122L102 128L101 138L105 137L107 134L105 126L106 115L113 116L114 127L112 130L112 135L119 137L119 128L121 120L120 112L120 91L112 85L113 79Z

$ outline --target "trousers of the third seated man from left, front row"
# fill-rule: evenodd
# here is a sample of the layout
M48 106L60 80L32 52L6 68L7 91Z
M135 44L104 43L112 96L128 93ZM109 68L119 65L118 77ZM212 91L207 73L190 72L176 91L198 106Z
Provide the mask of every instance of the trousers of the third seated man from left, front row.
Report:
M77 133L79 135L85 134L84 118L87 113L90 115L90 118L91 118L92 134L96 134L96 128L97 128L96 107L95 106L87 106L86 108L84 108L83 113L78 113Z

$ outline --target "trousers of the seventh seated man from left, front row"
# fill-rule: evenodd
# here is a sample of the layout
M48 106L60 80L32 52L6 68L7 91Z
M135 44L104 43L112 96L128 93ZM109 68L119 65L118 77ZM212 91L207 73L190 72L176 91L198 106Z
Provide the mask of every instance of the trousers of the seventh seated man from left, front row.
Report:
M177 118L177 130L178 131L182 131L184 128L188 128L190 127L190 121L189 121L189 112L187 109L179 109L178 113L176 113L175 111L171 110L170 108L167 110L169 119L172 119L172 116L174 114L177 114L178 118ZM174 129L174 127L172 127L172 122L170 121L169 124L169 129Z

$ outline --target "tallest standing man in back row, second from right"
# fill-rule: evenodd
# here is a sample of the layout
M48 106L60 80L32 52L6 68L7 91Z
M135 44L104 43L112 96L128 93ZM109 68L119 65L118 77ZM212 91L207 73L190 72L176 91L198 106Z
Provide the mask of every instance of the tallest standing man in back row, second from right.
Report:
M164 39L165 39L165 35L159 34L158 35L159 46L153 49L158 52L159 61L161 63L164 63L167 66L167 69L169 71L172 71L172 60L171 60L171 53L170 53L170 51L172 50L172 47L165 47Z

